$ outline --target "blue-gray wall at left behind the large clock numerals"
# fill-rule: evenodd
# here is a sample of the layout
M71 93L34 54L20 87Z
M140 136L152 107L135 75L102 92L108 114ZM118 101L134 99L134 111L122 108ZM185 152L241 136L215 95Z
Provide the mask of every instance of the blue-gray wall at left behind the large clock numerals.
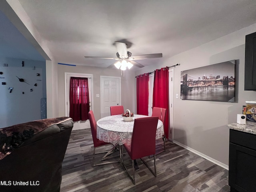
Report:
M0 128L41 119L40 100L46 98L45 62L0 58L0 63L0 71L4 72L0 75ZM8 64L8 67L3 64ZM36 76L37 73L40 76ZM20 82L16 76L23 78L28 84ZM2 85L2 82L6 82L6 85ZM13 87L11 93L9 87Z

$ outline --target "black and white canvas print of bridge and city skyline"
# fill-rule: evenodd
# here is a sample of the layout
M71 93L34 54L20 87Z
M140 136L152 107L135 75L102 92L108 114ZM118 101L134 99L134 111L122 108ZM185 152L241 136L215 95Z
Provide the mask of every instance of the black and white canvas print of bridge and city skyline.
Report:
M180 98L235 102L235 60L182 71Z

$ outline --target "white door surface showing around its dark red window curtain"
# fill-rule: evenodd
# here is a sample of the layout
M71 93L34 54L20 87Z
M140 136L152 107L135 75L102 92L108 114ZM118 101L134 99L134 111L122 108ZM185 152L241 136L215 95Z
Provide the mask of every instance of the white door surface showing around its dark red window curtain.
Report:
M81 74L81 73L67 73L65 72L65 116L69 117L70 103L69 103L69 91L70 91L70 77L83 77L88 78L88 89L89 89L89 101L90 110L93 108L92 102L92 74ZM76 121L72 130L80 130L90 128L90 121Z

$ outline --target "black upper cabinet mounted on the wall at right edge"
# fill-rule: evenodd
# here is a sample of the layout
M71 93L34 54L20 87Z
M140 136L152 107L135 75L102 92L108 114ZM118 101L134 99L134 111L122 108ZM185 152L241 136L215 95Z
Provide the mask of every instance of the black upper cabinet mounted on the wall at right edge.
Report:
M245 36L244 90L256 90L256 32Z

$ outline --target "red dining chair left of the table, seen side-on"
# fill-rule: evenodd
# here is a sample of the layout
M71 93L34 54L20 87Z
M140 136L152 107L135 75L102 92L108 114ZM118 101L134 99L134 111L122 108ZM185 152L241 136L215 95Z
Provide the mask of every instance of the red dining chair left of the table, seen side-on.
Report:
M90 120L90 126L91 126L91 131L92 131L92 140L93 140L93 145L94 145L92 165L97 166L97 165L104 165L104 164L110 164L110 163L115 163L115 162L121 162L121 159L120 159L119 161L94 164L95 154L101 154L101 153L108 152L108 151L104 151L104 152L95 153L96 148L101 147L101 146L105 146L105 145L109 145L109 144L112 144L112 143L107 143L107 142L104 142L104 141L101 141L101 140L97 139L97 135L96 135L97 134L97 132L96 132L97 131L97 127L96 127L97 125L96 125L96 120L95 120L95 117L94 117L94 114L93 114L92 110L89 111L88 117L89 117L89 120ZM120 151L120 158L121 158L121 151Z

